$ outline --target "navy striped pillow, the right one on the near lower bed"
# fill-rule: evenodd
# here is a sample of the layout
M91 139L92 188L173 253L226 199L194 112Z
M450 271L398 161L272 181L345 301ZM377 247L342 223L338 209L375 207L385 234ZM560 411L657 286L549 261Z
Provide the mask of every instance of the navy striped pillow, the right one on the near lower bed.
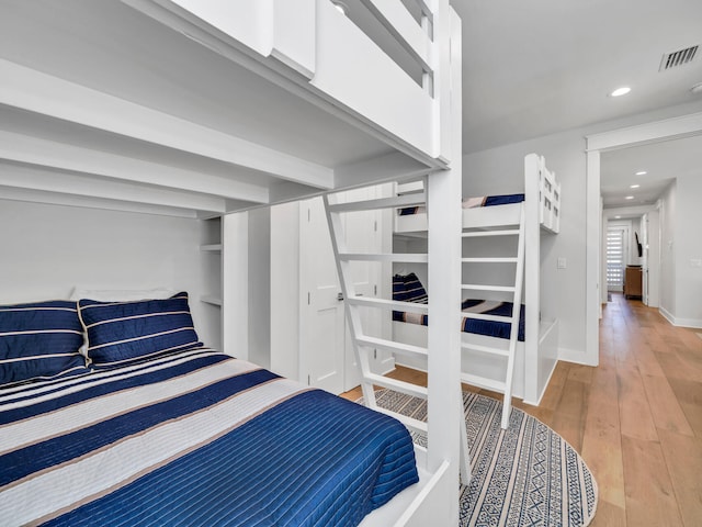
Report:
M83 299L78 307L88 333L88 358L97 367L202 346L185 292L138 302Z

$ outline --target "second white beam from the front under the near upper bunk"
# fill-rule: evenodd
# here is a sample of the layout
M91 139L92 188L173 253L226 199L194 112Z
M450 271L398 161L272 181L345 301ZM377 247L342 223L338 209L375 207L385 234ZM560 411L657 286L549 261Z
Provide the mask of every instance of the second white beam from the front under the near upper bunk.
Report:
M269 201L265 187L12 132L0 131L0 158L233 200Z

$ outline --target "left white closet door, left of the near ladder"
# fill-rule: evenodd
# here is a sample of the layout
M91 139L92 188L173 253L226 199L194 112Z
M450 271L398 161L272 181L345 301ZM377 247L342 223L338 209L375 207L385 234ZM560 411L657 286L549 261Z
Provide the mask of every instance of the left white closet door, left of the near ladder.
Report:
M301 377L312 386L344 391L344 314L341 288L320 198L301 206Z

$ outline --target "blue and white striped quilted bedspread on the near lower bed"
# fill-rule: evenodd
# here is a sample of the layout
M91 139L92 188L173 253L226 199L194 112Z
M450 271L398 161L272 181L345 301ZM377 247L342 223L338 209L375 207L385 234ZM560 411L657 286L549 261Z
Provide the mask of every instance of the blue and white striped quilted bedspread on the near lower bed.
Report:
M207 348L0 390L3 526L354 526L417 480L399 422Z

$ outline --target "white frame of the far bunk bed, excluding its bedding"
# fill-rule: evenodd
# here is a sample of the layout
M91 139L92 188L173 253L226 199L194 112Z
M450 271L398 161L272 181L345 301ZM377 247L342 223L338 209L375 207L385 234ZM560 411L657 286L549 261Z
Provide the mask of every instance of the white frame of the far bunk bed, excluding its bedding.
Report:
M398 186L398 193L411 194L422 188L422 182ZM522 203L463 209L463 228L490 228L496 225L519 225ZM524 341L517 341L512 391L526 403L539 405L557 361L558 321L541 316L541 233L557 234L561 227L561 183L546 168L545 159L536 154L524 157ZM395 215L396 235L423 236L427 213ZM431 288L429 288L431 289ZM431 299L431 294L430 294ZM427 327L417 324L393 322L393 332L400 341L423 345ZM462 341L484 347L507 349L509 340L477 334L461 334ZM414 368L423 366L417 361L399 359ZM462 370L472 378L498 380L505 377L505 366L494 357L464 354ZM471 383L479 384L477 380ZM491 383L480 388L496 390Z

